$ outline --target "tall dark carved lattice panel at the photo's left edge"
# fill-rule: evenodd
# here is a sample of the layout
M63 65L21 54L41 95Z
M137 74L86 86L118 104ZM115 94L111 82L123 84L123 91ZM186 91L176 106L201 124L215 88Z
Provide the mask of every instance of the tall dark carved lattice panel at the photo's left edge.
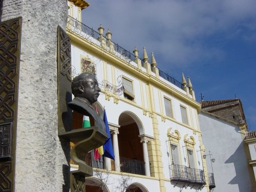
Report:
M13 191L22 17L0 23L0 191Z

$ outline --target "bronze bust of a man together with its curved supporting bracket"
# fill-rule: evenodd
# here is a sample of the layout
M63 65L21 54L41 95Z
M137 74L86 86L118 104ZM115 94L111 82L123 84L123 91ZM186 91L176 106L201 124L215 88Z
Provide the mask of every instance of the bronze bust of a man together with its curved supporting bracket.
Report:
M75 129L61 135L65 138L69 137L72 142L76 142L71 150L71 158L78 164L78 170L73 170L72 174L81 176L80 179L84 180L84 176L93 175L93 169L86 164L84 157L89 151L103 145L108 134L106 134L103 119L92 106L97 101L100 92L95 76L91 73L81 73L73 79L71 89L75 98L68 103L69 108L82 115L92 116L95 121L94 126L86 129L81 127L81 129Z

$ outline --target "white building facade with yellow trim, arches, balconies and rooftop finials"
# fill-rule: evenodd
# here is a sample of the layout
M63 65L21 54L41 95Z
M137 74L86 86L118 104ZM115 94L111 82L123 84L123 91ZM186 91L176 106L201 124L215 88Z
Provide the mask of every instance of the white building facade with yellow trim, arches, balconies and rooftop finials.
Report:
M69 7L81 18L79 4ZM110 31L103 36L102 26L96 32L71 16L72 73L96 73L96 105L99 114L106 110L115 155L97 162L89 155L94 176L86 178L87 191L209 191L200 104L190 79L186 87L183 75L180 83L159 71L153 54L149 63L145 49L141 60L137 48L131 54L114 44Z

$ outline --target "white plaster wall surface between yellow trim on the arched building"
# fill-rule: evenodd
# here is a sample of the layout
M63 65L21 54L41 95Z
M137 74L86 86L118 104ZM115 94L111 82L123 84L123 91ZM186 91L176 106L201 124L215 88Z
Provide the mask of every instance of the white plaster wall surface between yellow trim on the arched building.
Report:
M105 99L105 95L103 93L100 93L98 101L106 109L108 121L110 123L118 124L119 116L123 112L133 113L134 116L137 117L137 119L141 124L141 127L139 127L140 134L146 134L148 136L154 137L152 118L149 116L148 113L146 114L143 113L144 108L146 110L150 110L150 97L153 98L154 103L152 108L153 108L153 111L156 114L158 114L157 120L158 120L158 130L159 130L159 137L160 137L159 142L161 144L161 152L162 152L161 160L163 163L164 178L166 180L169 180L170 178L170 175L169 175L170 157L168 156L168 154L170 154L170 151L169 151L169 141L167 141L168 140L167 130L169 128L172 128L170 133L173 133L175 132L175 130L178 130L181 136L179 141L181 165L188 166L184 136L187 136L186 138L193 137L195 139L194 159L195 159L196 168L203 169L202 159L200 154L201 152L197 152L197 151L200 151L199 135L197 132L193 132L193 130L195 131L198 129L198 126L197 126L198 117L197 117L197 111L195 108L191 108L191 106L188 105L187 103L182 102L181 100L175 98L173 95L167 94L159 90L157 87L148 86L147 82L144 82L143 80L138 79L137 77L133 76L131 73L127 73L116 67L114 68L112 66L112 63L102 61L99 58L81 50L80 48L76 46L72 46L72 66L76 68L77 73L80 73L81 56L89 57L92 60L92 62L96 64L97 79L99 83L101 83L102 80L104 80L105 78L105 80L108 80L110 83L117 85L118 84L117 78L119 76L125 76L133 81L134 94L135 94L134 102L131 102L125 99L119 99L117 104L114 102L113 97L110 97L110 100L107 100ZM106 77L104 77L104 74L106 74ZM174 111L173 119L166 118L165 120L163 120L161 118L161 116L165 116L165 106L163 101L164 96L172 99L173 111ZM120 97L123 98L123 95L120 95ZM180 105L185 106L187 109L188 125L182 123ZM148 191L152 191L152 192L159 191L158 182L154 180L148 180L146 182L145 181L146 180L143 180L143 181L134 180L134 182L141 182L144 186L147 186ZM170 188L171 186L170 184L167 184L167 182L165 185L168 188ZM199 186L196 186L196 187L199 187ZM187 189L183 188L182 191L196 191L196 187L191 189L190 187L187 187ZM180 189L181 187L178 187L178 186L174 188L172 184L172 190L180 191ZM204 189L202 189L202 191L206 191L205 187Z

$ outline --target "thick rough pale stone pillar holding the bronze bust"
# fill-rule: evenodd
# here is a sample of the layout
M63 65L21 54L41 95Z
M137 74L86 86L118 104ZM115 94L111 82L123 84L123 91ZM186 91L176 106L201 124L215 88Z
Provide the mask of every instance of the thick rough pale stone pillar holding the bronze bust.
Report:
M58 138L56 62L67 0L1 2L2 21L23 17L14 191L69 191L69 145Z

